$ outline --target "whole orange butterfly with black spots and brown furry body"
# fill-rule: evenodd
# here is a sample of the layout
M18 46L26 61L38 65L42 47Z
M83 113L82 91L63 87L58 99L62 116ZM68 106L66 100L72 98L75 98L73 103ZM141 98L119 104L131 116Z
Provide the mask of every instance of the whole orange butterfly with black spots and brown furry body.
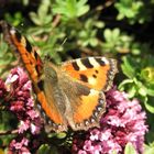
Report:
M37 109L45 130L74 131L99 127L106 111L105 92L118 73L117 61L107 57L84 57L54 65L41 59L30 42L14 28L1 21L4 40L20 56L33 84Z

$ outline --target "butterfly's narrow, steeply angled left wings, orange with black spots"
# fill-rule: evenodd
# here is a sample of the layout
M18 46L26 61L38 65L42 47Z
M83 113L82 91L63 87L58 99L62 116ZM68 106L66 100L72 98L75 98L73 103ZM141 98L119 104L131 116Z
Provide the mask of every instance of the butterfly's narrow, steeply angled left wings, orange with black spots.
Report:
M13 53L21 57L21 61L32 79L33 89L37 96L37 101L40 102L37 106L41 106L41 108L38 107L40 112L41 114L44 114L45 112L47 116L47 118L44 117L46 123L50 123L51 128L55 131L58 131L57 129L59 125L62 125L62 131L67 130L66 127L63 127L65 125L65 122L57 108L55 108L54 102L52 100L47 102L46 100L42 80L40 78L43 72L43 62L41 61L38 54L32 48L29 41L22 36L14 28L10 26L4 21L1 21L0 25L2 26L7 43L13 48ZM50 120L52 120L52 122Z

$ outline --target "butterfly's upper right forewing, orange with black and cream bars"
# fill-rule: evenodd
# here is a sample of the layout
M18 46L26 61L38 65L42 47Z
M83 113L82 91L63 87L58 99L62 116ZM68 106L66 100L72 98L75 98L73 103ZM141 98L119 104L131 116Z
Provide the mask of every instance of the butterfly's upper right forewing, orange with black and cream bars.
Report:
M117 61L106 57L78 58L64 63L62 67L89 88L103 91L110 89L118 72Z

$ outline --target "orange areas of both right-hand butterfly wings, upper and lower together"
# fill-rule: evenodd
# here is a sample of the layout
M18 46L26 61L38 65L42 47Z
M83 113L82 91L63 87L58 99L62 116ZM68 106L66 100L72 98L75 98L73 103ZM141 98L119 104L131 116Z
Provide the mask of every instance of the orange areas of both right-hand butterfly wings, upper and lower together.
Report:
M106 57L78 58L64 63L62 69L74 81L81 84L82 90L89 89L88 95L80 94L80 99L77 102L70 100L73 108L76 109L74 112L76 130L98 127L99 119L106 109L102 90L109 90L112 85L113 77L118 72L117 61Z

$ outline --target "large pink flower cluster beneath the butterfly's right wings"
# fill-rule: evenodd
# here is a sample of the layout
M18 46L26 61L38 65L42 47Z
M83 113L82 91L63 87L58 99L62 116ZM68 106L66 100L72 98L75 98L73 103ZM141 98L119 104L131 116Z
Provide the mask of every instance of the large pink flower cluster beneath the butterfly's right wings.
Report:
M141 111L139 100L128 99L125 92L116 88L106 94L107 111L100 120L100 128L75 136L73 153L122 154L127 143L132 143L136 153L143 153L144 135L147 131L145 112Z

